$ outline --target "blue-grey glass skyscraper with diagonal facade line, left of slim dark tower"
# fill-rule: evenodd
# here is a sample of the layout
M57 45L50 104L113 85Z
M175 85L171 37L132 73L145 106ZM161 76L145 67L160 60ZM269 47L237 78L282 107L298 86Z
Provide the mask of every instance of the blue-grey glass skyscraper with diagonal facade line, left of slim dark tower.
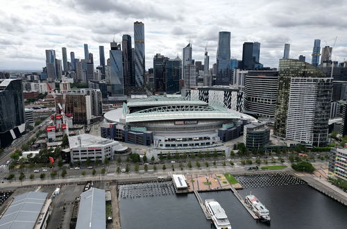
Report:
M123 55L121 44L115 41L111 42L110 50L110 83L112 96L124 95Z

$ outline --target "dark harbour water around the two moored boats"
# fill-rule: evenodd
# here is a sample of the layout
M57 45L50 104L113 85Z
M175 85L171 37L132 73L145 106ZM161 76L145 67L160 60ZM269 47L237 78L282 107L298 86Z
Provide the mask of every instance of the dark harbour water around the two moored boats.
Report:
M255 221L231 191L201 192L226 211L233 229L339 229L347 228L347 207L307 185L248 188L269 209L271 225ZM119 198L122 229L211 228L194 194Z

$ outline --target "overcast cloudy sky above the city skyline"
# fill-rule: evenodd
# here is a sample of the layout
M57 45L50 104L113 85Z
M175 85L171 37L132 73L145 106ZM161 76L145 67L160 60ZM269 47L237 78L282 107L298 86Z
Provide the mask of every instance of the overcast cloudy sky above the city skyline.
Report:
M311 62L314 39L332 46L333 59L347 60L347 0L0 0L0 69L42 69L45 49L62 58L67 47L83 58L87 43L99 64L99 45L109 57L110 41L133 37L133 22L144 22L146 69L153 56L182 56L189 39L193 59L216 62L219 31L231 32L231 56L242 58L244 42L260 42L260 62L278 67L285 43L290 58Z

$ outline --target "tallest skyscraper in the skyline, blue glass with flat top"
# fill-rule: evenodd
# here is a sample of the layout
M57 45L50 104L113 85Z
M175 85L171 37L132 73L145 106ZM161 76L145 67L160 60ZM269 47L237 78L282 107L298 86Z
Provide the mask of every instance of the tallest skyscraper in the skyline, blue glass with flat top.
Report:
M144 24L134 22L134 42L135 42L135 85L144 86L145 59L144 59Z

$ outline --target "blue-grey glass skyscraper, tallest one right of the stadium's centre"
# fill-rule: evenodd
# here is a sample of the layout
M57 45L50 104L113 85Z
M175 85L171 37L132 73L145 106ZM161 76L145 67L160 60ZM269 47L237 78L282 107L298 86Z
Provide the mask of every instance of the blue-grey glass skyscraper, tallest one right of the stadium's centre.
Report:
M230 84L230 32L219 32L216 85Z

